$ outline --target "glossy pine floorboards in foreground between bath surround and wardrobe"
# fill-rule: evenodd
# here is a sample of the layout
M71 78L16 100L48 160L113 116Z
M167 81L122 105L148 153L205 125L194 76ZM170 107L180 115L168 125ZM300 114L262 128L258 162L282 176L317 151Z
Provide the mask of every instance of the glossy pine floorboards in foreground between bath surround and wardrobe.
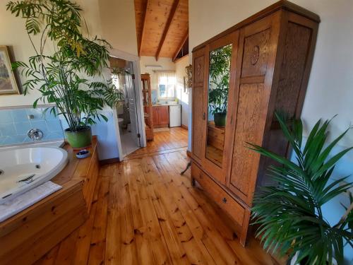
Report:
M173 149L103 166L90 218L36 264L277 264L253 238L241 247Z

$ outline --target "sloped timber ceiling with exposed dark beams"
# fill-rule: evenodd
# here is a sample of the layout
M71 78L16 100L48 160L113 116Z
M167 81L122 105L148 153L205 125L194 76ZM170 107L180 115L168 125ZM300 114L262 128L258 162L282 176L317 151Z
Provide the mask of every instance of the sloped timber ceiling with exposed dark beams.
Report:
M138 54L176 59L189 37L189 0L134 0Z

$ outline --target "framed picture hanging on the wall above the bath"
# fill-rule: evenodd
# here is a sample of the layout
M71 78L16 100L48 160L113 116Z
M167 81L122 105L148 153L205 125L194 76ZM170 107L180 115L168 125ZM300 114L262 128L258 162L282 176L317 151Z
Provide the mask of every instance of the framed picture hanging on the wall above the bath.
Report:
M4 94L20 94L20 90L11 69L8 47L0 46L0 95Z

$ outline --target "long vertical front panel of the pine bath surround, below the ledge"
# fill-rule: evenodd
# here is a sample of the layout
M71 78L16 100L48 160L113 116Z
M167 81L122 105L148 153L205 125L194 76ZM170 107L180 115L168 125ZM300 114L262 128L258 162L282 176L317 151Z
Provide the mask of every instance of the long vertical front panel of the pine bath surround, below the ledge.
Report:
M40 216L31 218L34 213L28 212L16 230L1 236L1 264L32 264L85 221L82 184L57 193L40 201L34 210Z

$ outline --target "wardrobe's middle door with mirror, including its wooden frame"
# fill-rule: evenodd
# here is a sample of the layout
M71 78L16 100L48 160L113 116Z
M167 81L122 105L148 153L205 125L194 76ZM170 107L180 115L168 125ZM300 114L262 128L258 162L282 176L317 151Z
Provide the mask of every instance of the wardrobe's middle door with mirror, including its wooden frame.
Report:
M205 153L203 167L221 184L226 184L232 153L234 80L239 31L229 33L206 47Z

